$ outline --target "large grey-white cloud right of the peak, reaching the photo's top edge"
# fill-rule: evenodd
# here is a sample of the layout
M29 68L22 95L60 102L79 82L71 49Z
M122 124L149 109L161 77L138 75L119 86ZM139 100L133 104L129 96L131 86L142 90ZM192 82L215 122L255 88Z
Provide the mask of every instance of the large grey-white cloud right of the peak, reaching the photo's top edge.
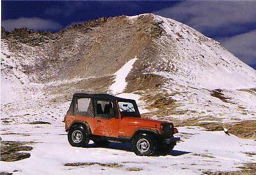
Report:
M155 11L155 14L185 22L199 31L225 29L234 32L255 24L255 1L186 1Z

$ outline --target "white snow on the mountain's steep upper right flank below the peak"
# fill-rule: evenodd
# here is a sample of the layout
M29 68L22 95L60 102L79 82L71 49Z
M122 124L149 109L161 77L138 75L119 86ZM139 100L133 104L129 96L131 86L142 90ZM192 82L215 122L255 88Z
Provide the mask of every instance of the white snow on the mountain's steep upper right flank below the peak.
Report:
M153 71L182 82L184 85L195 85L208 89L229 89L256 87L256 71L222 48L221 45L173 19L154 15L156 21L163 21L166 34L155 42L163 47L161 66L177 68L173 72ZM173 41L174 42L173 44ZM182 41L182 42L181 42ZM178 54L168 51L171 46ZM170 54L168 54L170 52ZM168 65L168 61L171 65Z

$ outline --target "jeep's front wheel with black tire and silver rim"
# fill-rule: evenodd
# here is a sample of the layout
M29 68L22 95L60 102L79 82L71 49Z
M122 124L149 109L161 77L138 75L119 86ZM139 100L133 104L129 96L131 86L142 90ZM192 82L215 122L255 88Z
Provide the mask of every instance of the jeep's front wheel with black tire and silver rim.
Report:
M131 146L137 156L156 156L157 154L157 140L153 134L138 134L132 139Z

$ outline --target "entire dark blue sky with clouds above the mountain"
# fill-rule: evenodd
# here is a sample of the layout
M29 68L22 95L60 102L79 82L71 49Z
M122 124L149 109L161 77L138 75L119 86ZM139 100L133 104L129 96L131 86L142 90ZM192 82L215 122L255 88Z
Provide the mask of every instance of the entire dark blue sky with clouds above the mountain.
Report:
M256 1L2 1L2 26L56 32L102 16L154 13L216 39L256 69Z

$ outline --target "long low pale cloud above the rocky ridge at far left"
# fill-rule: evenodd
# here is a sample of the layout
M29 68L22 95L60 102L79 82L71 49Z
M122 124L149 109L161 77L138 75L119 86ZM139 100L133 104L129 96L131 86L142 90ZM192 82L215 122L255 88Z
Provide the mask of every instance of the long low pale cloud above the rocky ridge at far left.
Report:
M60 29L62 26L58 22L51 21L50 19L41 18L18 18L7 19L2 21L2 27L11 31L14 28L27 27L29 29Z

